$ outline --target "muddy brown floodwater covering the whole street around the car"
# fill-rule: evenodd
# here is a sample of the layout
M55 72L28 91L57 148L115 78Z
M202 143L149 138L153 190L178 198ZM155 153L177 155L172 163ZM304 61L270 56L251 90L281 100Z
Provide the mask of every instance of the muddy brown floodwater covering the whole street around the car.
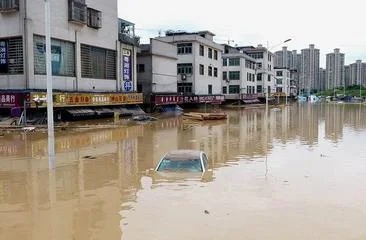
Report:
M0 239L366 239L366 106L222 111L57 132L55 169L45 133L5 133ZM210 171L154 174L177 148Z

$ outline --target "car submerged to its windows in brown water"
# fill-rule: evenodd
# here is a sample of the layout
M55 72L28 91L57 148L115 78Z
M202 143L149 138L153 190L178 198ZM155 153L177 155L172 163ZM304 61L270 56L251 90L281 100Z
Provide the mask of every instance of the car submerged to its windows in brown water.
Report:
M207 169L207 156L198 150L170 151L155 168L158 172L205 172Z

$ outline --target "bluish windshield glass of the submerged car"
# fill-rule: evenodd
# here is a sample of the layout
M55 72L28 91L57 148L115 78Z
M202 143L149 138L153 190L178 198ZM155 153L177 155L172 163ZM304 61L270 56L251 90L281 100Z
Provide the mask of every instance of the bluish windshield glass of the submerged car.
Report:
M170 160L163 159L158 171L189 171L202 172L201 161L199 159L190 160Z

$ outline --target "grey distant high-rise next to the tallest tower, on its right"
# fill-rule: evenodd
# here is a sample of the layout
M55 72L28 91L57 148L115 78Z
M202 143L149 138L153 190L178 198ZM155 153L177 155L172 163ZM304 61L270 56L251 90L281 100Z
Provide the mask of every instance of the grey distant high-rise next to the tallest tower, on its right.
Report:
M336 48L333 53L328 53L326 56L326 89L345 86L344 54Z

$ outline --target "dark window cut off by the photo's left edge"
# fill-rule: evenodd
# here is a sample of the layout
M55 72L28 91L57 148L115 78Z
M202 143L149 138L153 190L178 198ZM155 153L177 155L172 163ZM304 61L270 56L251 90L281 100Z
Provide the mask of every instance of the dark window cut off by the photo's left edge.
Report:
M21 37L0 40L0 74L23 74Z

